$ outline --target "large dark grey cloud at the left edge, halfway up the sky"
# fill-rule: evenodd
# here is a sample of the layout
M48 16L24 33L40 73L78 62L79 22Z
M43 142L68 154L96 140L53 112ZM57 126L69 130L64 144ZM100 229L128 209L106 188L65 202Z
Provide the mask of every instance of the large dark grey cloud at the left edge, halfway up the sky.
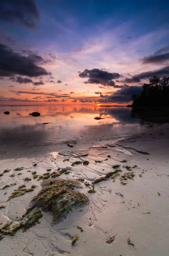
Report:
M44 68L37 66L40 58L37 58L36 54L21 55L6 45L0 44L0 76L23 75L38 77L49 75L50 73Z

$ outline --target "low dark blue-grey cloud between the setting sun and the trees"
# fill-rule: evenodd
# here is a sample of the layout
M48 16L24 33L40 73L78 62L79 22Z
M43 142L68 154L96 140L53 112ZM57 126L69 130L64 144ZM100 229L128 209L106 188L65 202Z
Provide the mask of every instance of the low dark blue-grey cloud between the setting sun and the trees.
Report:
M132 99L132 95L140 93L142 90L142 86L129 86L127 84L124 85L124 87L120 90L117 90L112 95L100 95L100 98L98 99L98 102L119 102L119 103L128 103Z

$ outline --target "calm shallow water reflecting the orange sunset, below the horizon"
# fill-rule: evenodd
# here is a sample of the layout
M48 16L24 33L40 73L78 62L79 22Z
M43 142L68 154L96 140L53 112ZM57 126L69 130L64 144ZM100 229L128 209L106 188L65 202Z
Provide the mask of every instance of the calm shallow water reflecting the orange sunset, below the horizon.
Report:
M10 114L5 115L4 111ZM40 116L29 116L34 111L40 112ZM1 158L32 157L69 149L68 143L83 148L115 142L147 127L127 107L3 106L0 120Z

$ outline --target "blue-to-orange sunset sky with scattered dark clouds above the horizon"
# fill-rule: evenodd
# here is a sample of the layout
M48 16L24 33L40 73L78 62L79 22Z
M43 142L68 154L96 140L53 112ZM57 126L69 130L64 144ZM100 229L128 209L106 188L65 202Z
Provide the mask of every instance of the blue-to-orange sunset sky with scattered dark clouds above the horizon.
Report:
M0 105L126 105L169 76L167 0L1 0Z

